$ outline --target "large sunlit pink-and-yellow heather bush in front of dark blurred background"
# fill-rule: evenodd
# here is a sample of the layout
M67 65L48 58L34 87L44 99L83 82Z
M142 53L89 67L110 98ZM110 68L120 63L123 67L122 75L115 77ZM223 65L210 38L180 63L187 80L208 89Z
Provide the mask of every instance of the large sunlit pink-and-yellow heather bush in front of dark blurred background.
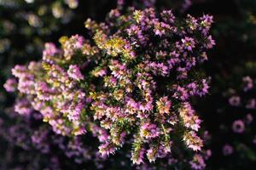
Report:
M18 84L9 80L4 87L17 86L20 115L38 111L63 136L90 131L102 156L124 144L132 145L134 164L170 156L183 144L198 151L201 120L190 99L208 92L196 67L215 44L211 25L206 14L180 20L171 10L130 8L122 15L115 9L104 23L85 22L91 39L61 37L61 49L46 43L43 59L16 65ZM191 166L205 167L200 154Z

